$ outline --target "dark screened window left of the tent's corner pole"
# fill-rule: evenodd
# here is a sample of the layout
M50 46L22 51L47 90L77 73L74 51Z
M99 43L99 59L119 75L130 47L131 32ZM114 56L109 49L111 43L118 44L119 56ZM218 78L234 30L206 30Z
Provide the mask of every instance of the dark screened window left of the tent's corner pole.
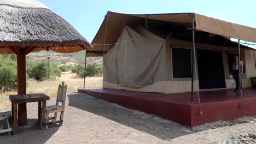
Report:
M172 70L174 78L191 77L190 50L172 49Z

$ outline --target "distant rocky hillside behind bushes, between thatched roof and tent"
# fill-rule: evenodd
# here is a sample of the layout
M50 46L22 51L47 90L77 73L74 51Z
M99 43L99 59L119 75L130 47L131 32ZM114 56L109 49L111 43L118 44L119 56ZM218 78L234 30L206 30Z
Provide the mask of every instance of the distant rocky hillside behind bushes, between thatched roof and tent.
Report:
M77 65L84 64L85 51L79 51L75 53L58 53L54 51L39 51L32 52L27 55L27 59L31 61L43 61L48 60L50 57L51 61L56 62L57 64L66 64L66 65ZM102 57L88 57L86 58L87 63L102 63Z

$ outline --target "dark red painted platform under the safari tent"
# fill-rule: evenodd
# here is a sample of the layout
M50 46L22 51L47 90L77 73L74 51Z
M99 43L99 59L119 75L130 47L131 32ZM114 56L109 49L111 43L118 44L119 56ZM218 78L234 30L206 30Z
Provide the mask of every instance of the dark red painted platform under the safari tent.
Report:
M200 105L196 93L195 102L191 103L189 92L160 94L113 89L78 89L78 92L189 127L218 120L256 116L256 88L244 88L243 99L237 98L237 93L231 89L200 92L203 115L199 114Z

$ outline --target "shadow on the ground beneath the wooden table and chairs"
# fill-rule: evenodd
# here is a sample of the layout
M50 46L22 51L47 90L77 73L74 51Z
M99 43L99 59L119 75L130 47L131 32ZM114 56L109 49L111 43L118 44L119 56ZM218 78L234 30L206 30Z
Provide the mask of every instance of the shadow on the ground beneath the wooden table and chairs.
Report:
M43 144L59 129L58 126L51 125L47 130L41 130L38 119L27 119L28 124L18 128L18 135L0 134L0 143L19 143L19 144ZM1 124L5 124L1 122Z

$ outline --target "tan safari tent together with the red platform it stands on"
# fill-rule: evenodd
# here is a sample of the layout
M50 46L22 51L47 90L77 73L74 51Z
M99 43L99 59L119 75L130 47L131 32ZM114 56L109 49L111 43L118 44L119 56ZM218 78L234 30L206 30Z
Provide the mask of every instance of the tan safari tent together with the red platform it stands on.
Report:
M189 127L255 116L253 43L256 28L200 14L108 11L86 51L103 57L103 88L78 91ZM245 64L238 92L230 77L235 55Z

